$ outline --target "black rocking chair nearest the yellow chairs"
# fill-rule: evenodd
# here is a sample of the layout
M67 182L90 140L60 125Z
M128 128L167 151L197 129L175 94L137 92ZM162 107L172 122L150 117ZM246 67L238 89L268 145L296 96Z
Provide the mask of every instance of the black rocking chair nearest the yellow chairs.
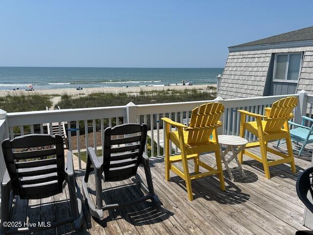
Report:
M112 139L112 137L116 139ZM101 219L104 210L128 207L148 199L151 199L157 205L159 204L153 188L149 158L144 153L146 139L147 125L123 124L105 129L102 157L97 157L93 148L88 148L83 194L92 216ZM91 164L93 167L91 167ZM103 205L101 181L122 181L138 176L136 172L140 164L144 167L148 188L142 182L139 182L142 191L146 192L146 195L128 202ZM92 170L95 177L96 205L91 200L87 188L89 174Z

